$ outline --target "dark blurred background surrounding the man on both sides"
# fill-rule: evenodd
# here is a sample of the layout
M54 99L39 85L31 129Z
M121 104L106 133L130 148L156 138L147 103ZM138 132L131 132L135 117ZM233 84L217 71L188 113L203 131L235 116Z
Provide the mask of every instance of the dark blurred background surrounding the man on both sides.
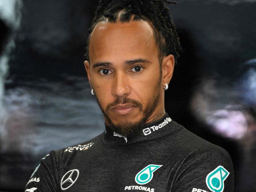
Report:
M256 191L256 0L177 0L183 48L165 92L176 122L226 149ZM104 131L83 66L98 0L0 0L0 191L22 192L50 150Z

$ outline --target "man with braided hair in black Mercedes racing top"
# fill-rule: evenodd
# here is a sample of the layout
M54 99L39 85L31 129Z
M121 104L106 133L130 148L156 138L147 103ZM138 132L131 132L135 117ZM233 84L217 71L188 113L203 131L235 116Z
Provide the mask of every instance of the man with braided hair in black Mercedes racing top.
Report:
M181 50L165 2L100 1L84 65L106 131L51 151L25 192L233 191L229 154L165 112Z

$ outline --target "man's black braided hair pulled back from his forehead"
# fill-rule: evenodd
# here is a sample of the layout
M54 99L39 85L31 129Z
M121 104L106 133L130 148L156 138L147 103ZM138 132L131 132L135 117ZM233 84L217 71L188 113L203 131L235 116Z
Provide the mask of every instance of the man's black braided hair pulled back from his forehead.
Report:
M130 22L130 20L145 20L153 24L154 37L158 46L158 59L172 54L177 63L177 58L182 52L180 41L176 32L174 22L171 20L167 4L176 4L168 0L100 0L95 11L95 17L89 28L86 54L89 61L89 41L91 32L98 22ZM133 16L133 17L132 17Z

